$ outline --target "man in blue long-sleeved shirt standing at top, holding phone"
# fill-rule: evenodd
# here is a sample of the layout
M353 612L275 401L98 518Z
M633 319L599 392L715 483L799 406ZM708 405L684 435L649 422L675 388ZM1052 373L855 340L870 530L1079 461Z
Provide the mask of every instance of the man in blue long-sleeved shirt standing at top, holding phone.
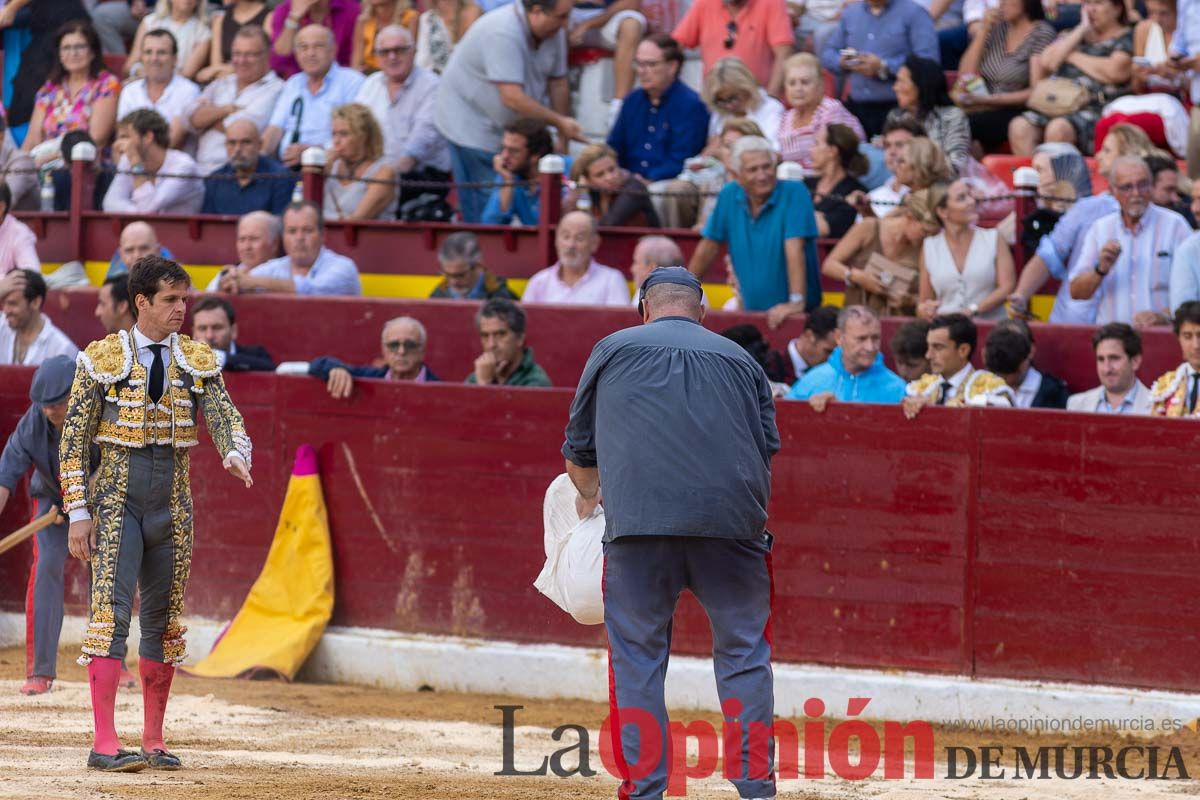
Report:
M905 60L910 55L941 60L934 20L913 0L850 4L820 55L826 70L850 76L846 108L862 120L868 137L883 131L883 120L895 108L892 83Z

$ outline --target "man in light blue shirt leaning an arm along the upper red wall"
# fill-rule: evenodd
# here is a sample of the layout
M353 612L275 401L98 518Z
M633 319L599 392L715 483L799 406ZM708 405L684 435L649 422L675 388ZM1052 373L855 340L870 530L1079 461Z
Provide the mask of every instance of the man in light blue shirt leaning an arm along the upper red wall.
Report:
M281 291L302 295L361 295L359 267L325 247L320 206L305 200L283 211L281 258L259 264L248 273L230 272L235 291Z

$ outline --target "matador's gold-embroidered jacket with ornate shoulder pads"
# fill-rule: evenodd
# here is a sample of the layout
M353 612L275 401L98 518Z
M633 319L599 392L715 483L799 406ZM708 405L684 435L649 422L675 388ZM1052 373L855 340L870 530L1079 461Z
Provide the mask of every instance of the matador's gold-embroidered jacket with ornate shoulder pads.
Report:
M168 345L169 391L157 403L146 393L146 368L134 357L128 331L110 333L79 354L59 447L65 511L86 503L83 459L90 443L194 447L199 444L197 407L204 409L222 458L236 452L250 465L250 437L226 391L212 349L179 333L172 333Z

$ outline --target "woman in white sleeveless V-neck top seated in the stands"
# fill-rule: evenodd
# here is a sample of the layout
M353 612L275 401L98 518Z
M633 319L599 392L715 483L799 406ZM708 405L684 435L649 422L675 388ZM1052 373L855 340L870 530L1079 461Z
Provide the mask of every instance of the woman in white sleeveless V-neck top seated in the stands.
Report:
M966 181L946 186L935 212L942 233L926 239L920 249L917 315L932 319L961 313L1003 319L1004 300L1016 288L1016 270L1000 231L976 224L979 213Z

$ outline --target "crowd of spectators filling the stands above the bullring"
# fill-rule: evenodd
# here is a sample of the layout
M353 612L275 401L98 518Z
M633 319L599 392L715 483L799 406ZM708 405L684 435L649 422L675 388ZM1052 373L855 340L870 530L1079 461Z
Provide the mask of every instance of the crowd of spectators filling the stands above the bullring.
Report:
M480 383L540 379L512 301L629 306L655 266L686 263L703 277L722 257L727 307L764 312L769 327L806 315L780 383L822 409L828 396L890 402L896 386L913 415L926 403L1061 408L1067 389L1032 366L1027 326L1001 325L980 344L974 324L1028 318L1050 278L1051 321L1124 325L1133 337L1178 325L1200 300L1200 188L1176 162L1200 172L1200 113L1189 122L1171 104L1200 91L1190 5L694 0L677 18L655 0L90 5L90 20L54 31L28 113L14 103L6 120L0 273L40 267L31 230L11 213L31 206L42 182L31 169L46 170L62 207L72 149L90 142L103 210L239 216L236 263L208 287L227 295L361 294L359 265L326 246L325 221L406 218L431 191L464 223L534 224L539 164L562 154L557 260L523 291L487 269L473 235L442 241L432 296L500 303L479 320L490 342ZM581 122L600 98L572 106L568 54L582 47L612 54L602 142ZM104 67L106 53L126 52L121 70ZM305 166L324 170L324 196L295 201L312 148L324 161ZM980 164L998 148L1032 158L1028 218L1013 218ZM601 228L613 227L662 234L643 237L630 264L604 264ZM700 234L690 254L672 237L686 228ZM817 239L836 240L823 261ZM152 224L127 225L107 277L151 252L170 255ZM836 318L822 277L845 285ZM24 299L10 317L11 360L54 331L35 284L8 291ZM106 327L122 302L106 283ZM203 338L232 363L265 356L235 344L235 311L222 303L197 309ZM880 315L914 318L892 342L900 375L883 366ZM354 377L436 379L420 324L389 325L386 372L330 361L313 374L338 396ZM965 372L977 347L988 369ZM1123 333L1096 348L1098 362L1102 350L1126 366L1140 355ZM1112 389L1100 374L1111 395L1085 404L1141 408L1123 404L1117 395L1138 385L1111 368Z

